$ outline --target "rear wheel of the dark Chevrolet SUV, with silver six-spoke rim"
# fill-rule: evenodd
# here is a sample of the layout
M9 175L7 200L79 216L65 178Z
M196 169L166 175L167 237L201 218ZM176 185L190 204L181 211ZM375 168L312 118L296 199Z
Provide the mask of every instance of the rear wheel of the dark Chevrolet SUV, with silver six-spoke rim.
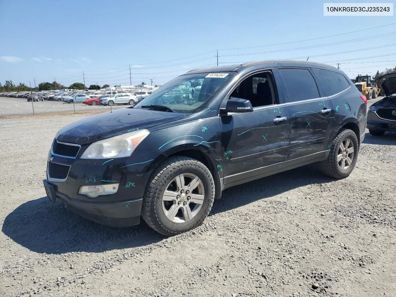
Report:
M350 148L351 145L353 145L352 153L350 152L350 149L345 151L343 150L343 148L341 148L341 144L346 145L348 143L348 140L349 145L347 145L347 148ZM337 162L340 156L340 152L342 159ZM346 154L344 154L344 152ZM359 142L355 132L350 129L343 129L338 133L337 137L335 137L333 143L331 144L329 156L326 160L319 163L319 168L325 175L329 177L333 177L336 179L343 179L345 177L348 177L348 175L350 175L352 170L355 168L356 160L358 159L358 152ZM351 154L353 154L352 159L346 158L351 157ZM347 165L348 167L342 168L342 164L344 164L344 166Z

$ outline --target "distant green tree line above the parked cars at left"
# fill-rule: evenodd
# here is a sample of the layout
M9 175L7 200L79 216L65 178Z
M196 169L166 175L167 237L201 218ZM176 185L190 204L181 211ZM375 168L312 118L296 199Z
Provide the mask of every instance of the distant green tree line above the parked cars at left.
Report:
M88 89L90 90L100 90L104 88L108 88L109 85L104 85L103 87L99 85L90 85ZM0 82L0 92L23 92L23 91L51 91L51 90L58 90L58 89L77 89L77 90L83 90L86 87L84 84L80 82L75 82L74 84L71 84L69 87L63 86L55 81L53 82L41 82L36 86L36 88L30 88L23 82L20 82L18 85L15 85L12 80L6 80L5 84L2 85Z

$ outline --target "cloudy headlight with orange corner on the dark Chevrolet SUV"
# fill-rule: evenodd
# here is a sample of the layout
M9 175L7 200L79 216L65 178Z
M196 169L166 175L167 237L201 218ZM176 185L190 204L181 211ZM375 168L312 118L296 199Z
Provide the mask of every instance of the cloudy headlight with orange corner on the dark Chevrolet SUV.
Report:
M109 159L129 157L150 131L136 130L92 143L82 154L82 159Z

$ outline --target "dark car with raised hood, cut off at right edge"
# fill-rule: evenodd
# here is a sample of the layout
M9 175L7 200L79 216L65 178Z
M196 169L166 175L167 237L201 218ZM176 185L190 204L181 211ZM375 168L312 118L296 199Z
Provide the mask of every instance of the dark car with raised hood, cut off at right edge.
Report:
M377 78L385 98L370 106L367 113L367 129L371 135L381 136L385 131L396 132L396 73Z

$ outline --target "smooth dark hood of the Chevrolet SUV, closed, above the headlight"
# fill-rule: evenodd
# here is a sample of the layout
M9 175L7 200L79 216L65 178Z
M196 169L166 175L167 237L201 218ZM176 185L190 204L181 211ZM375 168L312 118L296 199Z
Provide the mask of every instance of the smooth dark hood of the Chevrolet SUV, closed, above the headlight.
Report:
M57 140L85 145L120 135L129 129L151 129L183 118L185 114L162 112L147 109L123 108L89 116L68 126L57 133Z

